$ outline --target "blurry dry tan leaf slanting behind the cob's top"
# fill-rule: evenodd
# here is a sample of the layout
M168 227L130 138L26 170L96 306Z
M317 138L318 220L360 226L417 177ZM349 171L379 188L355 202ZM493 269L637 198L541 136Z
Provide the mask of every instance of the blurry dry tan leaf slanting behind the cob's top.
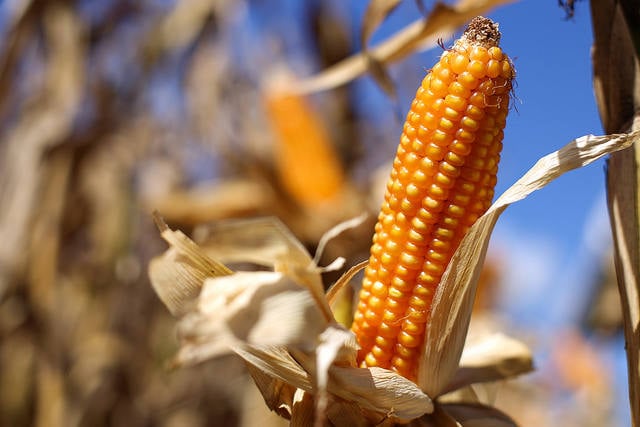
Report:
M477 15L514 0L461 0L454 5L436 3L429 16L417 20L398 31L387 40L372 47L366 53L352 55L320 74L299 81L292 86L297 93L313 93L333 89L364 74L369 61L375 58L379 64L398 61L414 52L435 47L439 39L451 35L467 21Z

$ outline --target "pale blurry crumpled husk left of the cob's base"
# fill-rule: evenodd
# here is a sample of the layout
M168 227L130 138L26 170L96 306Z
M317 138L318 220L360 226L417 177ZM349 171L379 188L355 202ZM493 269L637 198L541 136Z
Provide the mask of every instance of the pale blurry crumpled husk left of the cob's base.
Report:
M179 323L178 363L230 353L242 343L312 349L326 322L311 294L277 272L207 279L197 310Z

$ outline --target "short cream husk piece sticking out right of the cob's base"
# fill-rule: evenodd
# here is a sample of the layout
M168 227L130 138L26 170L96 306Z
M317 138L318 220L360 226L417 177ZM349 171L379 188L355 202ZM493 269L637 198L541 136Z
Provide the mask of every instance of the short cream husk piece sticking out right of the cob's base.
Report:
M496 333L477 343L467 343L460 367L448 390L513 378L533 370L533 356L521 341Z

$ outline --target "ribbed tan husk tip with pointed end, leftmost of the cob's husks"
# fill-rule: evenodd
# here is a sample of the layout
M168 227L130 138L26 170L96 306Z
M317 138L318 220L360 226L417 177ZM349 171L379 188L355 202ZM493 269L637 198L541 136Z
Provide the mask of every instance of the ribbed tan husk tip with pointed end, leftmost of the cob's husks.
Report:
M181 231L172 231L155 217L169 249L149 263L149 278L160 300L174 316L182 316L195 304L208 277L231 274L223 264L212 260Z

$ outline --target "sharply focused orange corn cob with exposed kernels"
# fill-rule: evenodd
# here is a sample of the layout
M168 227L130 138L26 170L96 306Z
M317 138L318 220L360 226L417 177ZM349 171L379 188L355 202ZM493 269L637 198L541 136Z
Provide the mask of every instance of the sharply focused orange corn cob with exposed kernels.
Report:
M352 325L362 367L415 381L436 287L491 205L515 76L499 39L497 24L473 19L411 104Z

